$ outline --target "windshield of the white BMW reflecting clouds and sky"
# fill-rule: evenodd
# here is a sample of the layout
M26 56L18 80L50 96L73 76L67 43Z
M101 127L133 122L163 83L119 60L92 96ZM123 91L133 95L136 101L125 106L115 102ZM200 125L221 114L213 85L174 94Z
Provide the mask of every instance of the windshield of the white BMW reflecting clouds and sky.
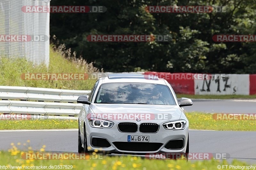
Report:
M94 103L176 105L168 86L149 83L106 83Z

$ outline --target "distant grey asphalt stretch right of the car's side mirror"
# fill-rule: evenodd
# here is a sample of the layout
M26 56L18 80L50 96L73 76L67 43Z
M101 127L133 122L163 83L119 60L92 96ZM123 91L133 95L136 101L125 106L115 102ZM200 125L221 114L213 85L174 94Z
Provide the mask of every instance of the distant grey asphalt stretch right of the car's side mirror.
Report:
M192 99L193 106L184 107L186 112L206 113L256 113L256 100L209 100Z

